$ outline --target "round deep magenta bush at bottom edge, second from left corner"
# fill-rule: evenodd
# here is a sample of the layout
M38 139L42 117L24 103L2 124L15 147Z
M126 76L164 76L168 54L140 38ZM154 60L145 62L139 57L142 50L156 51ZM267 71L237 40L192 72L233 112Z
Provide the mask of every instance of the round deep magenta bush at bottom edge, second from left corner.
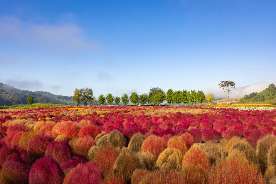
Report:
M62 184L63 179L58 163L48 156L37 160L29 173L29 184Z

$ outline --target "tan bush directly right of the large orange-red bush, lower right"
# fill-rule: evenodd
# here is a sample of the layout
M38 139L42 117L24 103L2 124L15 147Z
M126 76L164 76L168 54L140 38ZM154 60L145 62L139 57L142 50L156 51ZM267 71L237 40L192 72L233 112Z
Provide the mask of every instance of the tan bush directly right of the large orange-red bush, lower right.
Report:
M206 153L212 165L216 163L217 159L223 159L225 156L221 145L214 140L207 141L201 146L201 149Z

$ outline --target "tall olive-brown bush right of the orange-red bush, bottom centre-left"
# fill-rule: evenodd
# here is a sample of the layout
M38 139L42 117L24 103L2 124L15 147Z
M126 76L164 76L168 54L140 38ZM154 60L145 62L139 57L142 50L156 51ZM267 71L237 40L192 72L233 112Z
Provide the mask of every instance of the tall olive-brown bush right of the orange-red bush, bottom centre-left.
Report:
M131 181L132 173L140 168L138 157L127 148L122 148L117 160L114 163L114 173L122 175L128 183Z

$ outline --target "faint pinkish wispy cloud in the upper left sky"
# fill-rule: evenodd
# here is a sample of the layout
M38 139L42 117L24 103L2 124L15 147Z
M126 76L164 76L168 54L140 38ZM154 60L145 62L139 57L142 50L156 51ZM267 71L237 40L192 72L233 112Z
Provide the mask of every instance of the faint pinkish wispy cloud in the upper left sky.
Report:
M39 25L14 17L0 18L0 39L47 47L58 52L101 49L100 45L86 40L83 30L73 23Z

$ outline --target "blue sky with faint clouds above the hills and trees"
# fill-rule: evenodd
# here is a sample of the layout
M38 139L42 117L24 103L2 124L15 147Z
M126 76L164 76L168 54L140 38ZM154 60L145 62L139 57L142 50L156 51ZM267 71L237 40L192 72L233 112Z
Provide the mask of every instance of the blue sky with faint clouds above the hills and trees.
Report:
M232 97L276 82L276 1L3 1L0 82L121 96L151 87ZM257 84L255 84L257 83ZM253 85L255 84L255 85ZM231 97L231 96L230 96Z

